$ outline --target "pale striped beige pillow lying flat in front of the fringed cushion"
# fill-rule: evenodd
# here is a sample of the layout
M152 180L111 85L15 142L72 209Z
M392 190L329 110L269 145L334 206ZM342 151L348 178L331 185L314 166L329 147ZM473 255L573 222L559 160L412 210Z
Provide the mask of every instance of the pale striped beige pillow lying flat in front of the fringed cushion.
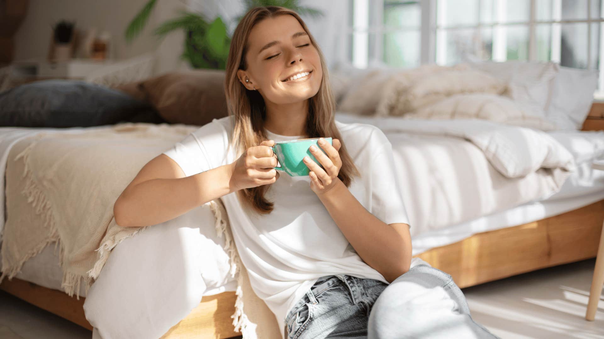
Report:
M455 94L405 114L408 119L486 119L503 124L555 130L544 116L525 110L515 101L492 93Z

